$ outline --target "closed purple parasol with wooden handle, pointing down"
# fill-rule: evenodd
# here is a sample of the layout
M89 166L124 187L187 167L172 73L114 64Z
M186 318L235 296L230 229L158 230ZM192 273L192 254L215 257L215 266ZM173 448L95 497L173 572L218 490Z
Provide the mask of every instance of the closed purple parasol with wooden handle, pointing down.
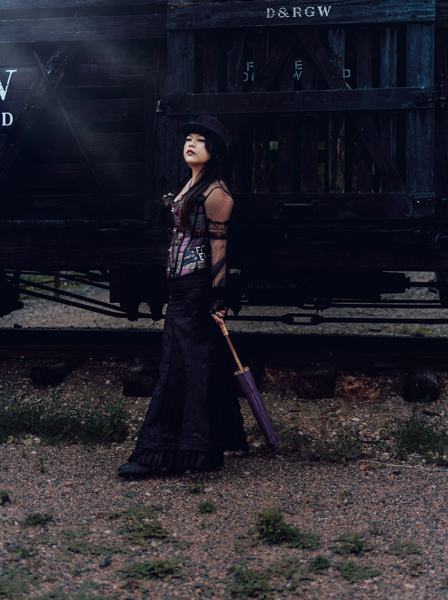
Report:
M245 395L249 406L251 407L252 413L254 413L255 419L257 419L257 423L260 426L263 436L266 438L267 445L274 452L278 452L280 449L278 437L275 435L275 431L273 430L269 416L267 416L266 408L264 407L263 400L261 400L260 392L258 392L257 386L255 385L251 370L249 367L243 368L239 358L236 355L233 344L228 337L226 326L220 325L220 327L239 368L239 371L235 371L234 373L236 381L242 389L242 392Z

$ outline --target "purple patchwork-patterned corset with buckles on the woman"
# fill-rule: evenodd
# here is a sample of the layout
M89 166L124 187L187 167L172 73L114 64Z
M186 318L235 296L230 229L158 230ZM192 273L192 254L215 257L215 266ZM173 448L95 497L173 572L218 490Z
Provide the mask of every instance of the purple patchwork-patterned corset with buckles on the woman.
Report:
M173 235L167 264L167 278L181 277L210 267L211 248L204 200L204 196L200 196L193 206L185 232L179 227L183 200L170 202Z

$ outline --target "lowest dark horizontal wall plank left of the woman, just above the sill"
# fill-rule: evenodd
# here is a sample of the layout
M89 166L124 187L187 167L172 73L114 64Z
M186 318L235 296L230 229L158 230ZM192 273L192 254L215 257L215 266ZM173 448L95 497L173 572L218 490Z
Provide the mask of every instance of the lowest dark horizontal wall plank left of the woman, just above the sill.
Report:
M108 194L107 199L118 219L144 218L143 194ZM100 194L20 194L4 203L1 217L28 219L101 219L104 218L104 198Z

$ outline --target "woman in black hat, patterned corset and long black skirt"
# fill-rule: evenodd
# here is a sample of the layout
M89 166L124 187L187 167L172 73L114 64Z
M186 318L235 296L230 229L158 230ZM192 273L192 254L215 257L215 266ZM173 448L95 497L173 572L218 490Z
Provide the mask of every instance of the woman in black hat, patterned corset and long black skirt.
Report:
M119 473L209 470L223 465L225 450L248 449L218 325L227 311L227 224L233 208L221 178L227 131L206 115L181 131L191 175L174 196L164 197L173 235L160 378L136 448Z

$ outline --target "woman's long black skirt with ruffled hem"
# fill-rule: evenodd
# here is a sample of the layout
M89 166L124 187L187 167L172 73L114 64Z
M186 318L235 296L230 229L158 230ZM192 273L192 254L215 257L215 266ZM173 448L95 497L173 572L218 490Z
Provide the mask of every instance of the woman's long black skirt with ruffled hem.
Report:
M197 271L169 280L160 377L130 461L213 469L225 450L248 449L226 368L225 340L211 318L211 284Z

